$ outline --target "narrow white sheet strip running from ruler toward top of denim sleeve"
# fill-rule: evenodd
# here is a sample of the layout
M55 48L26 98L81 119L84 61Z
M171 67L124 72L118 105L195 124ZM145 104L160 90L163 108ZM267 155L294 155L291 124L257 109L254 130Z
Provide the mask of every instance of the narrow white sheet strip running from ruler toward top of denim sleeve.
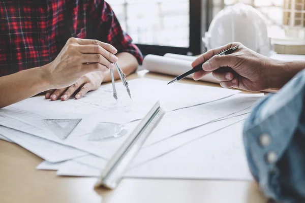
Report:
M151 132L144 147L184 130L249 109L262 97L264 94L235 94L212 103L169 112Z

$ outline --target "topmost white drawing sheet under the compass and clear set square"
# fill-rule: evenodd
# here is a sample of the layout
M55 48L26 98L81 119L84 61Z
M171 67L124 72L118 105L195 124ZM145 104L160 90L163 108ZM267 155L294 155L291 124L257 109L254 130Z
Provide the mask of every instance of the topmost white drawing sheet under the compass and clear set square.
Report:
M208 103L239 92L224 88L179 83L167 86L164 81L137 79L130 81L130 89L134 92L131 100L129 97L125 98L128 94L125 87L121 86L117 88L117 92L122 92L118 98L118 103L112 98L111 84L102 86L78 100L49 101L42 97L25 99L10 107L1 109L0 124L107 159L115 153L128 137L128 134L115 140L88 141L88 133L93 130L98 122L124 124L124 122L141 118L140 116L145 115L153 106L152 104L155 103L156 98L161 100L163 108L167 108L170 111ZM198 92L204 92L204 96L198 96ZM94 116L92 115L93 113L95 113ZM82 118L83 120L66 140L60 140L42 122L42 119L46 118ZM131 133L136 124L136 122L126 124L129 133Z

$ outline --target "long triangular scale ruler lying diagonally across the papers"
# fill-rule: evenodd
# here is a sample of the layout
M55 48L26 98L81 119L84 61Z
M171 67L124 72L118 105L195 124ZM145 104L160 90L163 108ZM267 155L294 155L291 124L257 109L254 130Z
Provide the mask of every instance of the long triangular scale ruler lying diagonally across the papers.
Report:
M124 175L126 167L137 155L145 140L158 125L164 114L165 111L160 107L160 102L158 101L133 130L123 146L119 147L109 160L95 187L104 186L114 189L117 186Z

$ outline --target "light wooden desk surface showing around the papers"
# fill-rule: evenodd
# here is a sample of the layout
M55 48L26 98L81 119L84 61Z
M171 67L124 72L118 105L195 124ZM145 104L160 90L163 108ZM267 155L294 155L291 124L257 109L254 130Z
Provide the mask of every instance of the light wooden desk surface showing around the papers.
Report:
M140 77L172 77L138 72ZM204 82L182 82L218 86ZM57 177L37 171L43 160L16 144L0 141L0 202L266 202L255 183L214 180L124 179L115 190L94 190L96 178Z

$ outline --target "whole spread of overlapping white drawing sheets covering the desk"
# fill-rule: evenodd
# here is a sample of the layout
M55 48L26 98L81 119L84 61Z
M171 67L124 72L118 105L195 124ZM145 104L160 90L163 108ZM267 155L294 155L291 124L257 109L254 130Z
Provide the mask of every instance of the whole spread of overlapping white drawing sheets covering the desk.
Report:
M118 84L116 101L109 84L78 100L49 101L34 97L3 108L0 135L43 158L45 161L37 166L38 170L55 170L62 176L98 176L139 119L160 100L167 114L130 165L127 177L249 179L240 122L262 94L240 94L237 90L180 83L166 85L166 81L151 79L129 83L132 100L125 87ZM66 139L60 139L54 133L58 131L52 130L54 126L47 125L46 119L52 119L54 126L65 131L71 127L71 119L81 120ZM57 123L58 120L63 122ZM102 139L108 134L101 131L100 140L90 139L99 123L109 122L124 126L126 134ZM210 137L217 137L219 142L208 141ZM226 144L225 152L218 153ZM223 154L227 156L221 157ZM224 167L224 158L229 156L236 158L238 165L232 162ZM205 162L208 168L202 170ZM166 168L161 170L163 167ZM181 168L176 170L177 167ZM222 174L224 170L228 172ZM241 172L230 176L233 170Z

